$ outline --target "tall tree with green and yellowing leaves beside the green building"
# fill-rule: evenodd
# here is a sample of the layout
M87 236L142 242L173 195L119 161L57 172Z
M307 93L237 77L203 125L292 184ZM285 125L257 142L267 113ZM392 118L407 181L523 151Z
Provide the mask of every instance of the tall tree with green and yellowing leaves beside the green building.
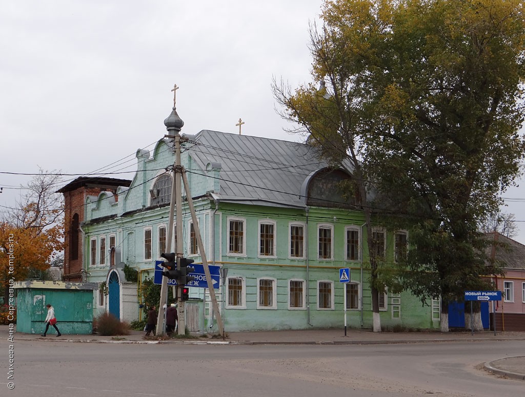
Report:
M310 44L325 86L274 87L297 131L353 162L364 206L388 202L411 231L403 282L423 302L442 298L442 330L448 302L489 288L477 223L519 175L524 18L520 0L326 1ZM367 203L372 189L388 200Z

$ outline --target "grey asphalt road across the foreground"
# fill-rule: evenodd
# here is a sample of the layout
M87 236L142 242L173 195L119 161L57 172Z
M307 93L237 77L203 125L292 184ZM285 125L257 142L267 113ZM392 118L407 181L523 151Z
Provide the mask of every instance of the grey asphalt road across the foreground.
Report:
M0 350L9 343L0 341ZM15 341L1 396L521 396L525 382L480 364L523 341L402 345L131 345ZM15 387L8 389L8 382Z

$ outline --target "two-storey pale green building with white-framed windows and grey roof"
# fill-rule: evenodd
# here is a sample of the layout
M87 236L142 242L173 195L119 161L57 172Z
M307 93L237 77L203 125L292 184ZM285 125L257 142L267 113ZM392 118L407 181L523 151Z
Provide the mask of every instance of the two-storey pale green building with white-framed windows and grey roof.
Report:
M208 130L186 137L182 165L206 257L227 270L216 289L226 331L342 327L344 294L348 325L371 328L364 216L339 187L352 180L351 167L334 169L312 147L294 142ZM137 173L125 186L105 180L109 188L92 194L93 185L86 194L76 180L61 189L83 195L83 221L68 229L66 220L66 242L80 241L82 270L100 285L95 313L109 310L127 321L142 315L141 282L153 277L165 251L172 187L166 168L174 163L174 146L163 138L151 153L141 149L136 156ZM184 199L184 256L199 263ZM66 213L67 206L68 200ZM394 261L396 244L406 248L409 241L407 232L381 224L374 234L385 260ZM66 244L66 258L68 250ZM124 265L138 271L138 280L127 280ZM343 267L350 268L350 283L339 280ZM190 287L190 297L188 327L213 330L207 290ZM408 292L386 292L380 306L383 327L439 327L437 300L422 307Z

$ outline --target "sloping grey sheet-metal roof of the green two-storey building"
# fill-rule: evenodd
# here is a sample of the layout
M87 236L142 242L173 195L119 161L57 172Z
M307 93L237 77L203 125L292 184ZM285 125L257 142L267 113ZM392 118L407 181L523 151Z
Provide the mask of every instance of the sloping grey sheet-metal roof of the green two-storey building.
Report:
M197 134L189 153L202 169L220 164L219 200L261 205L305 207L304 180L329 166L305 144L209 130Z

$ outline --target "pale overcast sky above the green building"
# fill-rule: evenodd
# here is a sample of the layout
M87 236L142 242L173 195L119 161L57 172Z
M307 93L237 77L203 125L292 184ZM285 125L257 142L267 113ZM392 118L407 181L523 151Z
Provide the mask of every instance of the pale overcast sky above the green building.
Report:
M271 83L311 81L308 28L321 3L2 2L0 171L88 174L122 158L104 169L136 169L135 151L166 132L174 83L183 133L235 133L241 117L243 134L301 141L283 131ZM29 178L0 174L0 205L13 206ZM525 187L503 197L519 199L505 211L525 244Z

